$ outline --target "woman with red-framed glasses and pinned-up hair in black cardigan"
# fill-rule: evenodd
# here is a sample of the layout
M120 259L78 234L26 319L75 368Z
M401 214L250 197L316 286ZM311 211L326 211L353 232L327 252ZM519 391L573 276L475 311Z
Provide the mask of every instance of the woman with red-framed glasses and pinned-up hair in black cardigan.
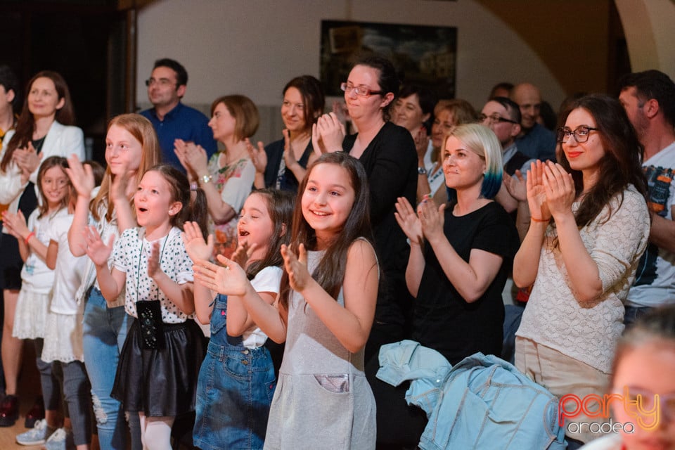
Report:
M399 85L399 77L389 60L377 56L361 60L341 86L349 117L359 132L345 137L338 117L330 113L319 117L312 135L314 148L320 148L322 153L345 151L361 161L368 174L371 222L382 282L375 322L366 344L366 363L371 357L377 359L381 345L405 338L411 308L405 284L409 245L394 219L394 205L399 197L415 203L419 175L410 132L390 122Z

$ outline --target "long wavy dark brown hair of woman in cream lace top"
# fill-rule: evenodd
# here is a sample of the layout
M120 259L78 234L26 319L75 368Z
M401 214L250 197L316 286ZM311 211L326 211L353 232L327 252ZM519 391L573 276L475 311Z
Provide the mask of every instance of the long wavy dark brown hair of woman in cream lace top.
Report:
M619 195L619 206L624 199L624 189L633 184L645 199L647 198L647 179L642 170L643 146L626 115L626 111L616 98L591 94L573 101L570 108L563 112L560 123L565 123L572 110L582 108L588 111L596 121L596 128L603 144L605 155L600 159L598 182L581 200L579 210L574 214L577 226L582 228L593 221L605 207L609 213L605 221L612 216L610 200ZM574 139L574 138L571 138ZM567 161L565 152L559 153L560 165L572 174L577 195L584 191L581 172L573 170Z

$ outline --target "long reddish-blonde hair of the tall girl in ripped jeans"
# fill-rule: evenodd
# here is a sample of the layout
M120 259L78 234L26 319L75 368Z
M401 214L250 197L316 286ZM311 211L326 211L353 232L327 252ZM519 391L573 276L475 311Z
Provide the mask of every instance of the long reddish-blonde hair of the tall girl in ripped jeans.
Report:
M141 143L143 151L141 152L141 162L139 169L136 171L136 179L129 180L130 183L139 184L143 174L146 173L150 167L157 165L162 159L162 150L160 150L160 143L157 139L157 133L153 128L153 124L148 119L139 114L121 114L110 120L108 123L108 130L113 125L124 128L129 131L131 136ZM94 200L89 204L89 211L94 219L101 220L99 211L101 207L106 208L105 220L113 219L113 202L110 201L110 186L113 184L113 173L110 172L110 166L105 168L105 175L101 182L101 188ZM133 201L133 200L131 200ZM131 208L133 211L134 209Z

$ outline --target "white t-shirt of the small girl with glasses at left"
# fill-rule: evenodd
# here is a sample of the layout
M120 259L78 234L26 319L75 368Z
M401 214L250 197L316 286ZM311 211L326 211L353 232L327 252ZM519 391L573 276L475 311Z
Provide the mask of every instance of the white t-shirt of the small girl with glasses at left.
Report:
M39 214L39 210L36 209L28 216L28 229L35 233L34 239L49 246L47 230L51 226L51 220L68 215L68 210L61 208L53 214L44 214L38 219ZM49 294L53 284L54 271L49 269L44 260L31 250L21 269L21 289L38 294Z

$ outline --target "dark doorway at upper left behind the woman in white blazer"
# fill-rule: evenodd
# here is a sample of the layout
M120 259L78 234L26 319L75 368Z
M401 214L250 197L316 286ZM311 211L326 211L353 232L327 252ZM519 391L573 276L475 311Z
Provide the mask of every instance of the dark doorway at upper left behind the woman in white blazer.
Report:
M60 72L87 155L103 163L105 124L132 110L135 12L118 10L115 0L2 0L0 9L0 63L15 70L22 86L39 70Z

